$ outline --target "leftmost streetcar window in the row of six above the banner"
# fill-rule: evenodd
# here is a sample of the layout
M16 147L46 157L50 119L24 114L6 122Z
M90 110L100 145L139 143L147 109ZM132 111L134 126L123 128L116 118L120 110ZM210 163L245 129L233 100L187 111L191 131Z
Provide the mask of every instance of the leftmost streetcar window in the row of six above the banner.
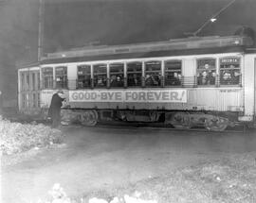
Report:
M80 65L78 66L78 88L91 87L91 66Z

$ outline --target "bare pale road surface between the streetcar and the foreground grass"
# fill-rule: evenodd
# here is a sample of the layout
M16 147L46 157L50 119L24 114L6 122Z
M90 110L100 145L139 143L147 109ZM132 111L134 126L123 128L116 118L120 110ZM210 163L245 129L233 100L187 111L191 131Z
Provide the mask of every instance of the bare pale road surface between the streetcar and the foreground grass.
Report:
M74 197L110 188L131 189L131 185L149 178L163 182L161 178L168 174L173 176L190 167L195 167L192 174L196 175L196 167L207 168L227 159L242 161L256 152L253 131L211 133L136 127L64 127L63 131L64 147L44 149L25 161L2 167L4 203L44 199L54 183L60 183L66 194Z

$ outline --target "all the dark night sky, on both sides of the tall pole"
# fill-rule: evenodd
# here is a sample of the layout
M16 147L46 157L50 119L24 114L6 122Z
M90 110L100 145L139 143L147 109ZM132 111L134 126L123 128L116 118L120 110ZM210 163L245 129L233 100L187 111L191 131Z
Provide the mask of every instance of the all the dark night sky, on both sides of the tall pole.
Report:
M89 42L120 44L183 38L230 0L46 0L45 51ZM256 0L237 0L200 35L256 30ZM0 88L15 61L37 59L38 0L0 0ZM14 78L14 77L13 77Z

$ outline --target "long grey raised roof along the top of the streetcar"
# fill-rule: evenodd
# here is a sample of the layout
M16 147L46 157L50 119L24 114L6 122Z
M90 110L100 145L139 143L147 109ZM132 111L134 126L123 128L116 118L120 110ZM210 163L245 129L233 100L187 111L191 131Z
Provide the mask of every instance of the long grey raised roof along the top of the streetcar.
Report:
M73 48L67 51L47 53L45 59L63 59L79 57L111 56L121 54L165 52L165 51L184 51L192 49L209 49L229 46L250 46L253 44L251 38L246 36L210 36L210 37L192 37L185 39L176 39L165 42L147 42L135 44L120 45L96 45L85 46L82 48Z

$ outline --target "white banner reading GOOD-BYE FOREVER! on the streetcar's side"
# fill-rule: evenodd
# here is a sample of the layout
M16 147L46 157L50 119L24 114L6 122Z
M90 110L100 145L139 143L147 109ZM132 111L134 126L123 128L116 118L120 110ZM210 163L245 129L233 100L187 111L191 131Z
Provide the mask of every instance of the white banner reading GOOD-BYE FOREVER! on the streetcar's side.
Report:
M69 91L69 102L187 103L187 90Z

